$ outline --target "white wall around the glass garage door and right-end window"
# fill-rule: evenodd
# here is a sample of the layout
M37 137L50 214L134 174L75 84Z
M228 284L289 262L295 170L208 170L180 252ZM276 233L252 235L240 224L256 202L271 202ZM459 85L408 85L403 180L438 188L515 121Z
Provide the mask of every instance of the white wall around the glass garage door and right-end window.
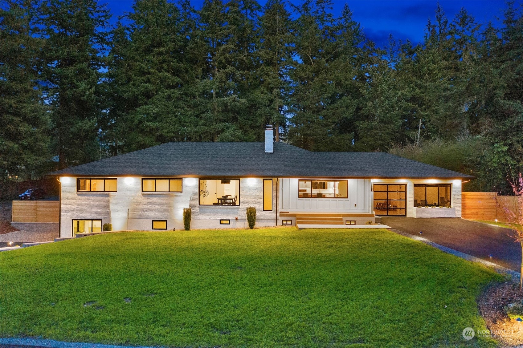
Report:
M407 217L461 217L461 179L372 179L373 183L407 184ZM414 184L451 184L451 208L414 207ZM374 193L372 192L372 200Z

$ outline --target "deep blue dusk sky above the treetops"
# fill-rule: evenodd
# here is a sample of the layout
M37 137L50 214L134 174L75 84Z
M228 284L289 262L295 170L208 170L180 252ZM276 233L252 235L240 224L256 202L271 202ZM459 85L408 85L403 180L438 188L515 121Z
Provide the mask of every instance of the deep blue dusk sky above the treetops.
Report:
M131 10L132 1L128 0L100 0L107 3L113 14L113 21L117 16ZM202 1L192 1L199 8ZM264 1L259 1L264 4ZM293 1L294 4L300 2ZM413 43L423 41L427 20L434 19L438 1L334 1L333 14L341 13L345 4L353 11L353 17L361 24L367 37L378 45L384 45L392 33L396 40L410 39ZM492 21L495 27L502 26L502 19L507 4L504 1L439 1L445 10L447 18L452 20L463 7L475 18L476 22L487 23ZM516 6L523 2L516 2Z

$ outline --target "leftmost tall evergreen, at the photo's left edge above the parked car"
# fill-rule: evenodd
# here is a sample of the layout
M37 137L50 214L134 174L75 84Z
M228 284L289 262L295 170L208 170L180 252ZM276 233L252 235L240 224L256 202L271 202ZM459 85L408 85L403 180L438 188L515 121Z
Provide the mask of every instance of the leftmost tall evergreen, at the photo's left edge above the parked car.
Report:
M2 9L0 46L0 178L22 175L31 180L48 159L49 120L42 103L40 57L42 40L31 1L12 1Z

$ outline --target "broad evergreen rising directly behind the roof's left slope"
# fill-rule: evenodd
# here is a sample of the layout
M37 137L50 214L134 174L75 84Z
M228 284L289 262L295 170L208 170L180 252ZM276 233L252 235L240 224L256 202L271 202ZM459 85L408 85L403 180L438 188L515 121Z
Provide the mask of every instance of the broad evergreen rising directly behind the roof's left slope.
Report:
M132 5L127 26L113 31L105 136L112 153L187 140L188 30L180 9L166 1Z

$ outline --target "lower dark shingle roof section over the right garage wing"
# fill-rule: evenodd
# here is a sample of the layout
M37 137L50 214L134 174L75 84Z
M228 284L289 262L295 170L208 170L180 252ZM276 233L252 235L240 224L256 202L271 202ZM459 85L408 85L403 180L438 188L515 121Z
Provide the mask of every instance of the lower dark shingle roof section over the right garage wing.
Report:
M385 152L321 152L320 154L380 173L382 177L388 178L473 178L467 174Z

